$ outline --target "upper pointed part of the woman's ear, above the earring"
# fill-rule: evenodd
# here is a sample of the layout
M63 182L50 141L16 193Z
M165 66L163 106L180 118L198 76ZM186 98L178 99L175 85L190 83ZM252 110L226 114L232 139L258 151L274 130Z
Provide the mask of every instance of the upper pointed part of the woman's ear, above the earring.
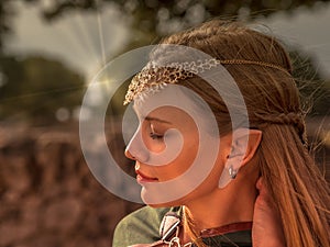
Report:
M238 128L232 133L231 151L228 164L234 169L246 165L255 155L261 143L262 132L258 130Z

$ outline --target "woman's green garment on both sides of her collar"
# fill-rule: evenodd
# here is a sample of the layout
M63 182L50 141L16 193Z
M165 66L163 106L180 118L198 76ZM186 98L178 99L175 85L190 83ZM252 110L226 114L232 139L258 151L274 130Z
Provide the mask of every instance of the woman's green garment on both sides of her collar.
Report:
M179 214L180 207L153 209L144 206L125 216L116 227L113 247L128 247L135 244L152 244L160 240L160 225L168 212ZM251 231L240 231L215 237L204 238L208 246L252 247ZM235 245L232 244L235 243Z

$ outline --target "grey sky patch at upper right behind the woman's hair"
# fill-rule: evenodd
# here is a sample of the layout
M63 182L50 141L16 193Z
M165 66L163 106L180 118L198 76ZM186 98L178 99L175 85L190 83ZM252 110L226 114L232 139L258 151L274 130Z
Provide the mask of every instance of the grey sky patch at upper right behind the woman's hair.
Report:
M293 14L278 12L264 23L276 36L310 55L320 74L330 79L330 3L299 8Z

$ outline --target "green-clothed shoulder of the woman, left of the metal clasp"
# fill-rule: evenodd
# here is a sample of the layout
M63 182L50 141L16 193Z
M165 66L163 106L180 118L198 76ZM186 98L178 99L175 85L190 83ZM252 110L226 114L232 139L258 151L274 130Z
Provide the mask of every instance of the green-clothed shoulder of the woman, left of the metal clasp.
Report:
M177 211L177 209L144 206L129 214L117 225L112 246L127 247L158 240L161 222L169 211Z

